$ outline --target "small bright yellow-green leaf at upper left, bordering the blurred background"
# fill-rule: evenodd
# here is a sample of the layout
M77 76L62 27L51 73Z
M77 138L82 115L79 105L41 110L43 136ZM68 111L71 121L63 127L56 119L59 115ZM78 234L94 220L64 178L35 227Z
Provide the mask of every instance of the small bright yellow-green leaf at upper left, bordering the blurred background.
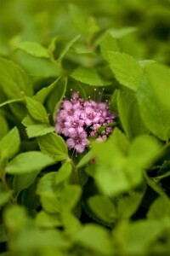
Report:
M39 58L49 58L48 49L36 42L21 42L17 45L16 49L21 49L29 55L33 55Z

